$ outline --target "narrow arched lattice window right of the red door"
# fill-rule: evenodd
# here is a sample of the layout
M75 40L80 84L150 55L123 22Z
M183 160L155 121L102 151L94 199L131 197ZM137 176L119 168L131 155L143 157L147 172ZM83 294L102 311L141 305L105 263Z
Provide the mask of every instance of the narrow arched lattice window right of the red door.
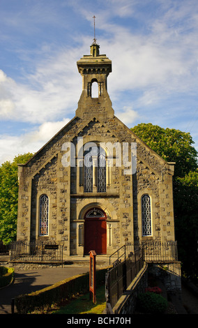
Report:
M142 235L151 236L151 200L148 195L142 196Z

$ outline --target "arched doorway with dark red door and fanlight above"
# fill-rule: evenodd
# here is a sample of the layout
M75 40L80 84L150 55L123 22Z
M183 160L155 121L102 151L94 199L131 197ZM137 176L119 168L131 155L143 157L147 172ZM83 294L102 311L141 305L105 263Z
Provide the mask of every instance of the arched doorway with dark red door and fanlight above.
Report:
M84 254L96 251L107 254L107 216L102 209L94 207L84 216Z

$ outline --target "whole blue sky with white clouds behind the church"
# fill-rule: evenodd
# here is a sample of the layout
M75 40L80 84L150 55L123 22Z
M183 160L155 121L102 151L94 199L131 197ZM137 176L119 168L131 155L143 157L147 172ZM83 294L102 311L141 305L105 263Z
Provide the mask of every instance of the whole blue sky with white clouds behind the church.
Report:
M75 117L94 15L116 117L189 132L198 151L197 0L0 0L0 165Z

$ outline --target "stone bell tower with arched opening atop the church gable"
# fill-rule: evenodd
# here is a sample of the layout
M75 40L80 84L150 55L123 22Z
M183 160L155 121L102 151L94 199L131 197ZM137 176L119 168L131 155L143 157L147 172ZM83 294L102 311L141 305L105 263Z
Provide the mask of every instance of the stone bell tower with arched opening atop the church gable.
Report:
M100 54L100 45L96 38L90 47L90 54L77 61L77 68L82 75L82 94L79 98L77 117L91 114L113 117L112 102L107 93L107 77L112 72L112 61L105 54ZM98 92L93 96L93 83Z

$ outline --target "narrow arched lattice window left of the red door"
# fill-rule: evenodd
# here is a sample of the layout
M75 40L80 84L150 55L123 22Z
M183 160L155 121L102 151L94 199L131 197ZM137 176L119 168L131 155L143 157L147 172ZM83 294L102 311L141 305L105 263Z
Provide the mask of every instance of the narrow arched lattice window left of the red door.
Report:
M49 198L47 195L40 197L40 236L46 236L48 234L48 215L49 215Z

